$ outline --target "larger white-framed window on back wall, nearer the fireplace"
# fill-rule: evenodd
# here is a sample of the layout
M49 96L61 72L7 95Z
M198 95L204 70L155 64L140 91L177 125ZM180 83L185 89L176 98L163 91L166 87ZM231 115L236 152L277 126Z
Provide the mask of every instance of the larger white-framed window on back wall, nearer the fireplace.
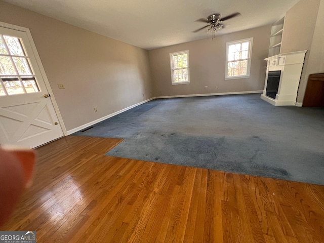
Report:
M253 38L226 43L225 79L250 77Z

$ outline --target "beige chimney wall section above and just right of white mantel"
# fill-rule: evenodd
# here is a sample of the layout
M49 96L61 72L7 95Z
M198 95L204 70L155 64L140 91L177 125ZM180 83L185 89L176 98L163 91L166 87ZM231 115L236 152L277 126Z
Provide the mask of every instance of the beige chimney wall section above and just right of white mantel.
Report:
M286 13L282 34L281 53L307 50L300 79L297 102L302 102L307 84L307 67L316 25L318 7L321 0L300 0ZM321 26L322 27L322 26ZM323 31L323 28L321 32Z

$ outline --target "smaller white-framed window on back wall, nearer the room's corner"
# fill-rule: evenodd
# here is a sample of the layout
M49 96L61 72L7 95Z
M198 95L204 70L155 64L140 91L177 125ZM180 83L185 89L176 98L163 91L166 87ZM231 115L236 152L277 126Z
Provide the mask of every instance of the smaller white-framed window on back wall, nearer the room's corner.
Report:
M170 53L171 79L173 85L189 84L189 50Z

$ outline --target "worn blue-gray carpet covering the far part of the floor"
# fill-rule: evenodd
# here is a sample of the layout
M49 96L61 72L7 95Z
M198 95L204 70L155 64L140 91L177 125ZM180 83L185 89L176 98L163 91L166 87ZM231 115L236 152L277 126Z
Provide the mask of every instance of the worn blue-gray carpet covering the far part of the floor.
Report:
M111 156L324 185L324 109L260 94L152 100L73 135L124 138Z

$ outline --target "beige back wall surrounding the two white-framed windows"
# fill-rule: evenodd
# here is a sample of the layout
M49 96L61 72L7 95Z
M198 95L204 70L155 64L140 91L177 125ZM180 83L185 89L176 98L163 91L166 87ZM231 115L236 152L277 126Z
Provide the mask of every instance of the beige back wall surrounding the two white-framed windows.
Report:
M263 90L271 26L149 51L154 96ZM253 37L249 78L225 80L226 42ZM171 85L169 54L189 50L190 84ZM208 86L208 89L205 89ZM215 87L217 86L217 89Z

